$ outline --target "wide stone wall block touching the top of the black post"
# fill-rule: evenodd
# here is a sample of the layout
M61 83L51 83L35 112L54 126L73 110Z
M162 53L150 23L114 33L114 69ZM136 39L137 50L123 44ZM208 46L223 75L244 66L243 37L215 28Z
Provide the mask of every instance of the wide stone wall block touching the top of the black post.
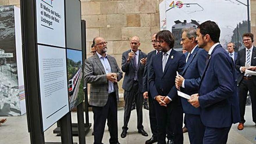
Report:
M106 15L82 15L86 20L86 28L104 28L107 24Z

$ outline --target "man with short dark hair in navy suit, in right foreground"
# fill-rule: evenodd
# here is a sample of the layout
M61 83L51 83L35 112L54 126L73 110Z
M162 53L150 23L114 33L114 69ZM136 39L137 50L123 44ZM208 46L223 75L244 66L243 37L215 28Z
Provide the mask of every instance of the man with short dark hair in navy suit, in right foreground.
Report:
M237 86L234 64L219 43L220 29L215 22L198 26L198 47L208 52L206 67L199 84L199 93L189 103L200 106L205 125L204 144L226 144L232 123L239 121Z

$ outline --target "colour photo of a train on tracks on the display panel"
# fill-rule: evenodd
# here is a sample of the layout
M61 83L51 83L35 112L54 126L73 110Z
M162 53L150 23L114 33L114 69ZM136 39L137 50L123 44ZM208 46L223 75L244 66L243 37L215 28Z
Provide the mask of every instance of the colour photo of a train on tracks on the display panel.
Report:
M82 80L82 51L67 49L67 83L70 110L83 101Z

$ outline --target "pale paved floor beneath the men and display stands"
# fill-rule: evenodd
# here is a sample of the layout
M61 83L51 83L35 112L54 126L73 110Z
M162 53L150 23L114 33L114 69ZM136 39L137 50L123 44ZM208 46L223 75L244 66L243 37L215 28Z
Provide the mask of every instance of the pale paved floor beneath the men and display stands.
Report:
M120 108L118 110L118 135L119 142L121 144L144 144L147 139L149 139L152 134L150 132L149 116L148 111L143 109L143 125L145 131L149 133L148 137L138 134L136 129L136 110L131 113L131 118L129 122L129 130L126 138L120 138L123 125L123 114L124 109ZM246 123L245 129L243 131L237 130L237 125L233 125L229 133L228 144L256 144L256 127L252 122L251 116L251 106L246 106ZM93 123L93 113L89 112L90 122ZM0 117L3 118L3 117ZM72 122L76 122L76 113L72 113ZM61 137L56 136L52 133L56 125L52 126L45 132L46 142L61 142ZM91 128L92 129L92 128ZM109 143L109 132L108 128L105 127L105 133L103 137L103 143ZM86 136L86 144L93 144L92 130ZM73 137L73 141L78 143L78 137ZM8 117L8 121L0 127L0 144L29 144L30 138L27 129L26 115L20 117ZM188 134L184 134L184 144L189 144Z

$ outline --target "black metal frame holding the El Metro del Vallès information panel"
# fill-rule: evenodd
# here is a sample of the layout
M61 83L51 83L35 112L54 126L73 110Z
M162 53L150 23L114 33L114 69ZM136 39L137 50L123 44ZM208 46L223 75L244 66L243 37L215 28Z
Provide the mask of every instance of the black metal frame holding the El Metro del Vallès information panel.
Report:
M35 0L21 0L21 18L28 131L30 133L31 144L45 144L40 102ZM82 118L79 117L79 119ZM73 138L70 112L63 116L59 121L61 125L62 144L72 144ZM84 135L82 136L84 137Z

